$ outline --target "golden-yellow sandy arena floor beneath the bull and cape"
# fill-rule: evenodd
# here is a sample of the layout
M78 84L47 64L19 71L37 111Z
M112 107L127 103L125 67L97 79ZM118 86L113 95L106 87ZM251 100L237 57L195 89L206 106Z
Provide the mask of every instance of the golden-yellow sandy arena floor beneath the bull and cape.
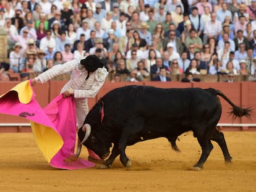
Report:
M0 191L256 191L256 132L224 132L232 164L215 148L204 169L192 170L200 146L192 133L179 137L174 152L165 138L127 148L132 167L59 170L49 166L32 133L0 134ZM83 148L81 157L87 158Z

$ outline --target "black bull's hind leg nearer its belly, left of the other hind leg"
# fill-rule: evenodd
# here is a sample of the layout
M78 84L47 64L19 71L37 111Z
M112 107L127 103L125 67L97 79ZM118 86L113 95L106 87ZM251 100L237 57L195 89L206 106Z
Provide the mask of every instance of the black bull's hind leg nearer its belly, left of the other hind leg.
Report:
M203 164L205 163L205 161L207 161L207 158L211 150L213 149L213 144L211 143L211 141L204 138L204 136L197 137L197 140L202 148L202 155L197 164L193 166L194 170L200 170L203 168Z

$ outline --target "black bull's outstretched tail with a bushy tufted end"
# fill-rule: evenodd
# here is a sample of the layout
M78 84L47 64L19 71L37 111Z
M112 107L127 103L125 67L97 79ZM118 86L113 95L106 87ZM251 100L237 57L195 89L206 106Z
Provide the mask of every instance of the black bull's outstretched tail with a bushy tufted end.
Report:
M223 99L225 99L233 108L229 112L233 115L233 119L236 119L237 117L245 116L248 119L250 119L250 115L252 114L252 108L241 108L236 106L232 101L230 101L224 93L222 93L220 90L215 90L215 94L221 96Z

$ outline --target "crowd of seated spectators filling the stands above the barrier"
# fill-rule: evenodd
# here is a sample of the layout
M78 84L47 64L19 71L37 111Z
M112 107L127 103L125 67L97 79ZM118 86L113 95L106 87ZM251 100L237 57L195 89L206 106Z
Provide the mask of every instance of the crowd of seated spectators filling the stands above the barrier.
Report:
M122 74L126 81L256 76L256 0L0 2L9 52L1 80L6 72L40 73L89 54L100 57L113 81Z

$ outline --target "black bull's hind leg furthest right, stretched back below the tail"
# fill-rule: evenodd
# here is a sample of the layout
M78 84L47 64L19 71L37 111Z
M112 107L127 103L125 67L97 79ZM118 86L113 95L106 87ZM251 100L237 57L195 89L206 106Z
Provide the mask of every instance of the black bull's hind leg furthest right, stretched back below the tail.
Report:
M224 134L218 130L215 130L213 132L213 136L211 137L211 140L216 141L219 144L221 151L223 152L225 162L231 162L232 157L229 154L228 147L224 138Z

